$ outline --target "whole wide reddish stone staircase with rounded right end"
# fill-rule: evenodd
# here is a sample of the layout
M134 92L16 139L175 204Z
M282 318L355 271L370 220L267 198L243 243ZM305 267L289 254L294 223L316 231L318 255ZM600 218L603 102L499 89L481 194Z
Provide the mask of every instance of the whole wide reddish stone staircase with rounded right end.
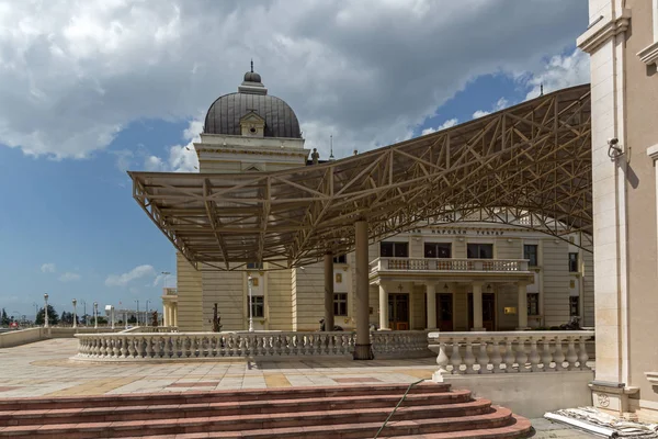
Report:
M7 438L374 438L407 384L0 399ZM527 438L530 421L447 384L413 386L378 438Z

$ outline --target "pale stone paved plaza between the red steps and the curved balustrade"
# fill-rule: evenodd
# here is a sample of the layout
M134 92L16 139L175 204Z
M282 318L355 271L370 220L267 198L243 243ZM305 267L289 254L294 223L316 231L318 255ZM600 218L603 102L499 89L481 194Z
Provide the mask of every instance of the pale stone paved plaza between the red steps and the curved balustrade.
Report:
M359 383L411 383L429 379L433 358L281 362L87 362L70 358L77 340L54 339L0 349L0 398L211 391Z

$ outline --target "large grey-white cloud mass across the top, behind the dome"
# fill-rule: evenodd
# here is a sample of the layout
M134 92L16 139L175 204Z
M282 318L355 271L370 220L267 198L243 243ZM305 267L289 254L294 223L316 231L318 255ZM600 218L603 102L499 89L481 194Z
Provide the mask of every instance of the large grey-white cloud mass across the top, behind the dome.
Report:
M588 18L572 0L0 0L0 144L55 159L89 157L135 121L196 119L236 91L251 57L307 145L326 157L333 134L342 157L409 138L480 75L540 71ZM195 166L182 145L146 157L139 166Z

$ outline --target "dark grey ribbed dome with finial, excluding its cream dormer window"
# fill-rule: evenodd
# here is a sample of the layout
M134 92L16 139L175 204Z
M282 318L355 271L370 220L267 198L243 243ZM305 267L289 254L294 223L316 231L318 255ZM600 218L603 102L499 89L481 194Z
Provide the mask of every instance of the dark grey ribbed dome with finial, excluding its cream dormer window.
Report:
M237 93L218 98L206 114L206 134L241 135L240 119L254 112L265 120L265 137L302 138L299 122L282 99L268 94L259 74L248 71Z

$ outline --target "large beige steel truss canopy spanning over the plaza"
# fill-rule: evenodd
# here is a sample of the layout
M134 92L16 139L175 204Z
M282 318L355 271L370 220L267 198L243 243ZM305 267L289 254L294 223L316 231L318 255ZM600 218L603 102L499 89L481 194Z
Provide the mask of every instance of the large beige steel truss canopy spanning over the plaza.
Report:
M592 229L590 86L422 137L276 172L128 172L133 195L193 264L292 268L419 222L497 222L563 239Z

